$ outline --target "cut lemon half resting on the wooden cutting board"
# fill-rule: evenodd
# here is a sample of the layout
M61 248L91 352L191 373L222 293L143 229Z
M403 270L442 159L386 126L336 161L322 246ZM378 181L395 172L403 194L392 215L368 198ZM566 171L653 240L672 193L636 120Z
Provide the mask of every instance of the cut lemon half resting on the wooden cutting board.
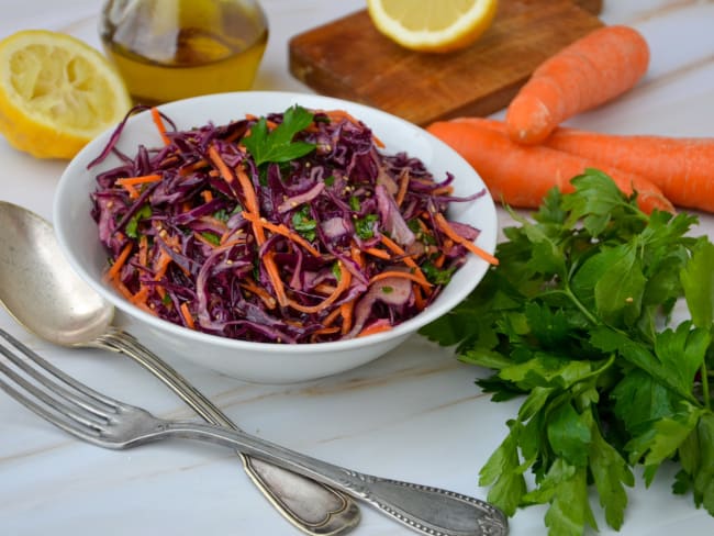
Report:
M367 0L375 26L400 45L451 52L478 40L495 16L497 0Z

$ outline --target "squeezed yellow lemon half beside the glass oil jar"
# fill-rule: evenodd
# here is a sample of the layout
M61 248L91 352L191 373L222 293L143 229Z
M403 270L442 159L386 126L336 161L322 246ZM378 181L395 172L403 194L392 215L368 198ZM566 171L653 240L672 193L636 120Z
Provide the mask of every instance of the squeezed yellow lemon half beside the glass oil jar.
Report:
M0 133L38 158L71 158L132 105L109 60L85 42L46 30L0 41Z

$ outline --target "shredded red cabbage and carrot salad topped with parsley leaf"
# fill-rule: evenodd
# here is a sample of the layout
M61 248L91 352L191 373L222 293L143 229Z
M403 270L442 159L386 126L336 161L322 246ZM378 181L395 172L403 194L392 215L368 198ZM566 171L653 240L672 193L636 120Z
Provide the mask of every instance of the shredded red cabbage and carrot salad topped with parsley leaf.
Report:
M150 113L163 146L116 146ZM156 108L127 114L93 167L91 215L105 278L131 303L175 324L260 343L321 343L391 330L426 308L479 231L448 221L453 175L382 154L342 110L293 105L178 130Z

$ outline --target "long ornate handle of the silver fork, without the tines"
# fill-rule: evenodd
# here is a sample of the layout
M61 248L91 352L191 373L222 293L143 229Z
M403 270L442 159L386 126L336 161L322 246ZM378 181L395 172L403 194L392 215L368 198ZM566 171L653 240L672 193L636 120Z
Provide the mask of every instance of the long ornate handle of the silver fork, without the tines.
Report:
M460 493L345 469L239 431L180 421L160 421L143 442L166 436L239 448L291 471L361 499L383 514L428 536L503 536L507 521L495 506Z

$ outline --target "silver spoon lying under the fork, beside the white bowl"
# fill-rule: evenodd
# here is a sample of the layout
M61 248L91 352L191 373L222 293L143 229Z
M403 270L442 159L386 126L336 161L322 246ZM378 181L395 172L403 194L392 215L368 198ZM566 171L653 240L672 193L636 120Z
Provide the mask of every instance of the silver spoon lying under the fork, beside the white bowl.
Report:
M237 429L210 400L136 338L112 325L114 308L65 261L52 225L0 201L0 302L26 330L54 344L103 348L144 366L205 421ZM353 529L359 509L347 495L300 474L236 453L266 498L306 534Z

